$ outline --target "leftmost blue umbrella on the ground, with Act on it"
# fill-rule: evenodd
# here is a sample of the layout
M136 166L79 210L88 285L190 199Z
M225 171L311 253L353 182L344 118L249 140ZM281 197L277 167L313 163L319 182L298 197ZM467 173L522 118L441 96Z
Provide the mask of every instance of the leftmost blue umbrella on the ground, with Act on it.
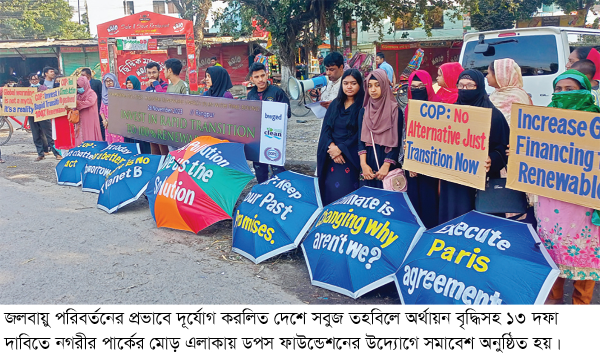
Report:
M85 165L94 157L95 153L100 152L107 145L106 141L84 141L69 150L56 165L56 182L66 186L79 186Z

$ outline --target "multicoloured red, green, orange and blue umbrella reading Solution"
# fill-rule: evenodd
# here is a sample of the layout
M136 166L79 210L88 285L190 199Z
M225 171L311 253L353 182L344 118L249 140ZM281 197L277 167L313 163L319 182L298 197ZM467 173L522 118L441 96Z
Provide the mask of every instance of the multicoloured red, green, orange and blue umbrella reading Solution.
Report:
M252 180L244 144L198 137L170 152L146 189L158 227L197 233L224 219Z

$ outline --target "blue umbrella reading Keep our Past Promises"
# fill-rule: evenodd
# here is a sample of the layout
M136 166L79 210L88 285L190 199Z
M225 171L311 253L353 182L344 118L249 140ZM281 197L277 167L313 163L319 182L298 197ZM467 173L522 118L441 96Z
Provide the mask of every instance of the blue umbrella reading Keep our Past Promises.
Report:
M259 264L294 249L322 210L317 178L284 171L252 187L235 210L232 251Z

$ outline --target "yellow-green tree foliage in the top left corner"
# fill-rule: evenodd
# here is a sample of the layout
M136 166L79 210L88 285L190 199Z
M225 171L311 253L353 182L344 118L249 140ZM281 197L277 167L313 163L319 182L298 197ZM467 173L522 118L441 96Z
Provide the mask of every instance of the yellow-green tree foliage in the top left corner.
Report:
M66 0L0 1L0 38L89 38L86 26L71 21L73 9Z

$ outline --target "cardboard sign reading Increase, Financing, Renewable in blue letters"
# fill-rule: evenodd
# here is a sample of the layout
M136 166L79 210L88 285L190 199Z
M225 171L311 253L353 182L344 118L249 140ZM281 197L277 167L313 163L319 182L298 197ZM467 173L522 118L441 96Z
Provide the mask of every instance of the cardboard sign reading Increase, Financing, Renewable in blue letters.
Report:
M512 105L506 187L600 210L598 113Z

